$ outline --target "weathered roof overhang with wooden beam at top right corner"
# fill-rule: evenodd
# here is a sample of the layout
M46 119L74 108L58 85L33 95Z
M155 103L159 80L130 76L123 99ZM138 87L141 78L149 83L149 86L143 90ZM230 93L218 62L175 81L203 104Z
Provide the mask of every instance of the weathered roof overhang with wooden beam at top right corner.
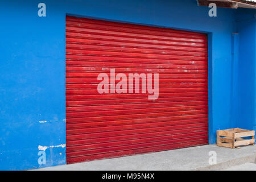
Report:
M238 7L256 9L256 0L197 0L199 6L209 6L210 3L215 3L217 7L228 7L237 9Z

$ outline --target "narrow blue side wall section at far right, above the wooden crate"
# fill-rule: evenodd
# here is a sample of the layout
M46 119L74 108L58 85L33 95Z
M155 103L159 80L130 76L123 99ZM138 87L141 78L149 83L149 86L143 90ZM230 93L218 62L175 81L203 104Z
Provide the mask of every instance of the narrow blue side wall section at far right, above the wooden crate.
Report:
M238 60L238 117L237 127L256 130L255 60L256 60L256 11L240 10L237 15L239 32ZM253 14L254 13L254 14Z

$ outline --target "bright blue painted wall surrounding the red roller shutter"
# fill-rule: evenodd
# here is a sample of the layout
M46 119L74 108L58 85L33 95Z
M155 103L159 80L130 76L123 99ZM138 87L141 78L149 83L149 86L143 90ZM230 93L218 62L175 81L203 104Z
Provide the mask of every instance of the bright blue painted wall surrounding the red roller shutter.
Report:
M46 3L46 17L38 16L40 2ZM218 129L238 124L255 127L255 55L249 51L244 53L248 59L243 64L243 55L233 53L249 45L253 45L251 49L255 52L255 23L247 23L245 28L244 24L236 22L237 15L245 17L239 11L218 8L217 17L210 18L208 7L197 6L195 0L40 2L0 2L0 169L31 169L66 163L65 147L50 147L46 149L46 164L38 164L39 145L65 144L66 14L207 33L209 143L216 142ZM232 33L237 31L241 34L234 38ZM249 45L247 40L250 40ZM243 82L243 77L249 80ZM250 90L251 84L253 90ZM247 89L246 100L238 100L245 94L244 89L237 89L240 86ZM249 110L244 108L237 112L243 104L247 104ZM240 122L234 118L239 118Z

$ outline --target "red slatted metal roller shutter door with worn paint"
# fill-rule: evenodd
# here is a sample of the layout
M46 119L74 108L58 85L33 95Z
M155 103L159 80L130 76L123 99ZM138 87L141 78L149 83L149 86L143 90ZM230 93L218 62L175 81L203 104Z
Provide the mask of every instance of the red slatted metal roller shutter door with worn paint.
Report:
M208 144L207 35L67 16L67 163ZM99 94L100 73L159 73L159 97Z

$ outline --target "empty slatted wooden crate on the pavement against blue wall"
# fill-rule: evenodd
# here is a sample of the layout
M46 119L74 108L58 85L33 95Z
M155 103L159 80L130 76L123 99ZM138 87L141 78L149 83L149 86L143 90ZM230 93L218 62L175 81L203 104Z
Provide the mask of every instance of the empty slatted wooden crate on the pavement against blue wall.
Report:
M254 145L255 131L244 129L228 129L217 131L217 146L240 148L238 146ZM242 137L251 137L251 139L244 139Z

